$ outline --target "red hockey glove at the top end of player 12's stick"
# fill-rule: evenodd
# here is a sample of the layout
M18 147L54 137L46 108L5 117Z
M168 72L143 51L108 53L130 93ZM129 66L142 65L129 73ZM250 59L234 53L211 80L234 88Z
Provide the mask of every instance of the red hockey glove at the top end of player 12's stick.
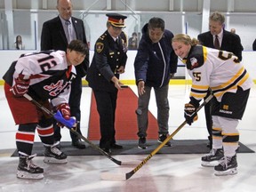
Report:
M22 76L14 79L15 84L12 86L11 92L15 97L22 97L28 92L30 79L23 79Z

